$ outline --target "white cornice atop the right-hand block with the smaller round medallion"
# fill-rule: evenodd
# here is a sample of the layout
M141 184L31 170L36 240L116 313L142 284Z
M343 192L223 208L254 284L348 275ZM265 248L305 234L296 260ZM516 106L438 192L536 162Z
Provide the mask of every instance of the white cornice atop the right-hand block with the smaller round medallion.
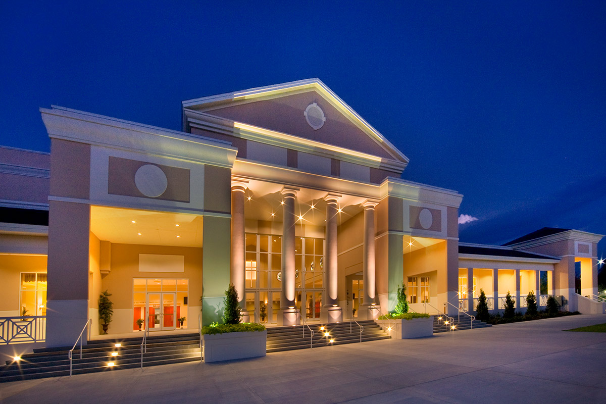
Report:
M414 201L431 202L453 208L459 208L463 200L463 196L456 191L394 177L387 177L383 180L381 194Z

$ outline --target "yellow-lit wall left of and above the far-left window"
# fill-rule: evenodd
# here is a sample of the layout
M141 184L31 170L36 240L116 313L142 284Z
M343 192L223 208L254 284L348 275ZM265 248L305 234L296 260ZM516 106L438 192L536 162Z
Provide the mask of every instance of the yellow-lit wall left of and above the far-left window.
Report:
M0 311L14 311L5 316L18 316L19 313L19 283L22 272L46 272L47 257L18 256L0 254Z

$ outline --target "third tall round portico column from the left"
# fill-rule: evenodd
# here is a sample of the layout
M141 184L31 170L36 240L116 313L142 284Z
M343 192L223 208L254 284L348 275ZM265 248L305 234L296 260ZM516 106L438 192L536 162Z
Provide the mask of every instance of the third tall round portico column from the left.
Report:
M339 195L328 194L326 201L326 260L324 263L324 305L320 311L323 322L339 322L343 313L338 305L337 215Z

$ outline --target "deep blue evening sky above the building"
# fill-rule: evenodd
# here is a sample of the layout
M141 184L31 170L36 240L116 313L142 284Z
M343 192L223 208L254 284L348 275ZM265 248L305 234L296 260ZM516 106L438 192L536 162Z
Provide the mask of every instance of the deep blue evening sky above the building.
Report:
M464 194L461 239L606 234L606 2L12 2L0 144L48 151L51 104L181 128L184 99L318 77Z

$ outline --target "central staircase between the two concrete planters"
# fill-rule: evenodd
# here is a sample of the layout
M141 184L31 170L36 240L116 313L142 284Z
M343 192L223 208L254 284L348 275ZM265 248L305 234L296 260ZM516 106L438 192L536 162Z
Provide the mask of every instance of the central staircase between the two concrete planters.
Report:
M360 320L358 324L341 322L268 328L267 353L390 338L390 335L373 320Z

